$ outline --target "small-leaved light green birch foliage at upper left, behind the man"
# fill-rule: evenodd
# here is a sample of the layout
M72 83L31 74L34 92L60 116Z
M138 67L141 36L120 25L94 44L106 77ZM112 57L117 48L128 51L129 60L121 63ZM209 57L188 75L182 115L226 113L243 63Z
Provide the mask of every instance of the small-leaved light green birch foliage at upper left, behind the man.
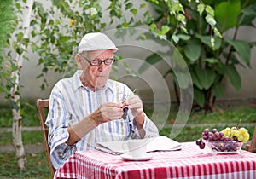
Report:
M11 6L12 1L4 0L3 2L0 8L9 10L9 13L5 13L3 16L4 22L7 20L8 23L5 23L6 26L0 26L1 29L5 27L5 31L1 30L0 32L9 33L0 35L6 37L1 38L3 43L1 41L0 44L5 44L7 52L0 55L2 63L0 93L4 93L8 99L10 98L9 90L15 86L15 79L10 78L11 73L18 68L15 61L12 61L16 58L14 52L21 55L31 49L38 55L35 61L38 61L38 66L42 66L42 71L38 72L37 78L44 78L49 70L70 76L76 70L73 59L77 53L78 43L85 33L106 31L108 25L111 24L117 27L140 24L139 21L136 21L137 11L146 7L144 3L141 3L137 8L130 1L109 1L109 3L106 2L109 4L108 7L104 9L102 1L99 0L46 0L45 2L49 3L49 6L43 5L40 1L34 1L29 27L30 34L28 38L23 38L23 32L20 32L23 25L20 22L23 22L26 0L16 1L15 6ZM4 8L8 4L9 9ZM17 17L16 21L12 16L14 14ZM2 11L0 15L3 15ZM107 21L103 18L105 16L109 17ZM144 17L147 18L147 14ZM16 26L11 26L14 24L13 22ZM16 28L15 32L14 28ZM12 32L14 33L12 34ZM15 38L9 41L11 35ZM23 58L29 60L26 55L24 53ZM66 70L67 68L68 70ZM41 89L44 90L46 85L47 80L44 78Z

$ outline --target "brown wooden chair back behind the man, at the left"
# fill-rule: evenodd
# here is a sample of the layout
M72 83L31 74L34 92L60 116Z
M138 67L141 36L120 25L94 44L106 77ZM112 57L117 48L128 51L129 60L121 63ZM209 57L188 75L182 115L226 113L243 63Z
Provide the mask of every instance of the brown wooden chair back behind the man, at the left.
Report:
M55 168L52 166L51 161L49 159L49 145L48 145L48 126L45 125L45 120L46 120L46 113L48 113L48 109L49 109L49 99L38 99L37 100L37 107L38 107L38 117L40 120L40 124L41 124L41 131L42 131L42 135L43 135L43 140L44 140L44 149L45 149L45 153L46 153L46 157L47 157L47 161L48 161L48 166L49 166L49 173L51 178L54 177L55 174Z

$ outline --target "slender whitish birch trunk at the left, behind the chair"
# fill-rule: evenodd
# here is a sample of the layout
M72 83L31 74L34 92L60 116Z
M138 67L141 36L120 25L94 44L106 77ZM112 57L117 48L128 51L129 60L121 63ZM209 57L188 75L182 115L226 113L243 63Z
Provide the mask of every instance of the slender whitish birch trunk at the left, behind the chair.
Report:
M26 9L24 11L23 18L23 38L28 38L28 27L30 24L31 13L32 13L33 0L26 1ZM26 49L26 46L20 43L22 49ZM25 51L25 50L23 50ZM12 72L11 79L14 79L15 86L11 88L11 103L12 103L12 113L13 113L13 144L15 147L15 154L17 159L17 165L20 170L26 170L26 153L22 143L21 129L22 129L22 118L20 116L20 72L23 64L23 52L19 55L17 54L15 58L15 66L17 70Z

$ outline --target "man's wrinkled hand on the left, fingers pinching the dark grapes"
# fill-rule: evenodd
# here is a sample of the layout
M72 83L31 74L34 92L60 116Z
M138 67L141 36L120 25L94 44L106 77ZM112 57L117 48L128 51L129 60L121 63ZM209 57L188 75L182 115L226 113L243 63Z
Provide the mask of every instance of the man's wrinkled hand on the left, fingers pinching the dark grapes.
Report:
M121 118L123 115L123 104L121 102L108 102L102 104L95 112L90 114L90 119L96 124L106 123L108 121Z

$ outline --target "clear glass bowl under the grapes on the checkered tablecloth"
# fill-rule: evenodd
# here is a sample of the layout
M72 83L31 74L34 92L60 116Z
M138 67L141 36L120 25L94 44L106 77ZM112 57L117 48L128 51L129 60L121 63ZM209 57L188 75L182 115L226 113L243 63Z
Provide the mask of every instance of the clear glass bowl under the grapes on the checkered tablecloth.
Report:
M212 151L212 155L217 155L218 153L231 154L238 153L241 154L241 147L243 142L241 141L204 141L207 147Z

